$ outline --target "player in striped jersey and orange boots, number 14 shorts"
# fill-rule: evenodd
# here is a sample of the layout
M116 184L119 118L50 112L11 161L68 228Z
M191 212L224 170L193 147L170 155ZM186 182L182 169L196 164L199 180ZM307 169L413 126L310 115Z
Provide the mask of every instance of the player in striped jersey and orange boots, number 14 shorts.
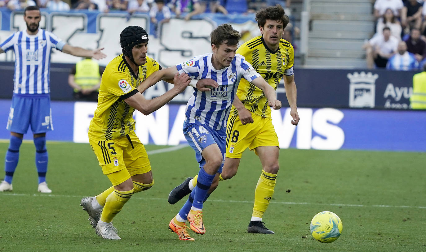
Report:
M268 97L274 109L281 108L275 90L268 85L244 57L236 54L240 34L231 25L219 25L210 34L212 53L196 56L176 66L152 74L145 85L154 85L159 80L170 79L174 74L187 73L193 79L211 79L212 88L206 91L194 89L186 106L184 135L196 152L199 162L198 181L195 190L179 213L170 221L169 227L180 240L193 241L185 225L199 234L206 229L202 220L203 202L213 179L219 177L225 160L226 122L231 105L236 97L240 80L253 83Z

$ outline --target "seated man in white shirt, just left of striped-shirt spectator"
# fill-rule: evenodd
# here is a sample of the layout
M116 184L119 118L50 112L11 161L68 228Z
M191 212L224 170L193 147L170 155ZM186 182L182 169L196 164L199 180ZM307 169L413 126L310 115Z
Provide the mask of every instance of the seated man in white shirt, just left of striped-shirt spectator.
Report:
M383 34L377 34L366 43L367 67L374 68L374 63L378 68L385 68L388 59L397 51L398 39L391 36L389 27L383 28Z

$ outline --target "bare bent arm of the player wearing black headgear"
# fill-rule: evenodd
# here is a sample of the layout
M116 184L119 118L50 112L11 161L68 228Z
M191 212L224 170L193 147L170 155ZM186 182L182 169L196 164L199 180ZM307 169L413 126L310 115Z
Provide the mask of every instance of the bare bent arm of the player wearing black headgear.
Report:
M173 82L175 85L172 89L154 99L147 100L142 93L138 92L124 99L124 101L144 115L149 115L164 106L167 102L170 102L178 93L184 91L190 82L190 77L187 74L179 75L176 73Z

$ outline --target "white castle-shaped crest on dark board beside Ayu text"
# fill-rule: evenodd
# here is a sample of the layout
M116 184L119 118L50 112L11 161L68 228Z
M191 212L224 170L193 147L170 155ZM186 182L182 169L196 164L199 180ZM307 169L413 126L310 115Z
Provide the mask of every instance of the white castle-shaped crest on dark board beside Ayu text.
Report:
M376 79L379 77L378 74L372 74L368 72L354 72L354 74L348 74L350 80L349 85L349 107L351 108L363 108L370 107L374 108L375 105L375 93L376 93Z

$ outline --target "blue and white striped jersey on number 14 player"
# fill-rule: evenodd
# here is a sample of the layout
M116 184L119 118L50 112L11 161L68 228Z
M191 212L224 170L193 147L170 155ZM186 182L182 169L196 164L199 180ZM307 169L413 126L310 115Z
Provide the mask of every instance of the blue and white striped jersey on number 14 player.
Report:
M193 79L213 79L218 88L201 92L194 88L186 107L186 122L201 122L213 130L226 127L231 105L241 78L251 82L260 77L244 57L236 54L229 67L216 70L212 65L213 53L196 56L176 65L179 74L187 73Z

